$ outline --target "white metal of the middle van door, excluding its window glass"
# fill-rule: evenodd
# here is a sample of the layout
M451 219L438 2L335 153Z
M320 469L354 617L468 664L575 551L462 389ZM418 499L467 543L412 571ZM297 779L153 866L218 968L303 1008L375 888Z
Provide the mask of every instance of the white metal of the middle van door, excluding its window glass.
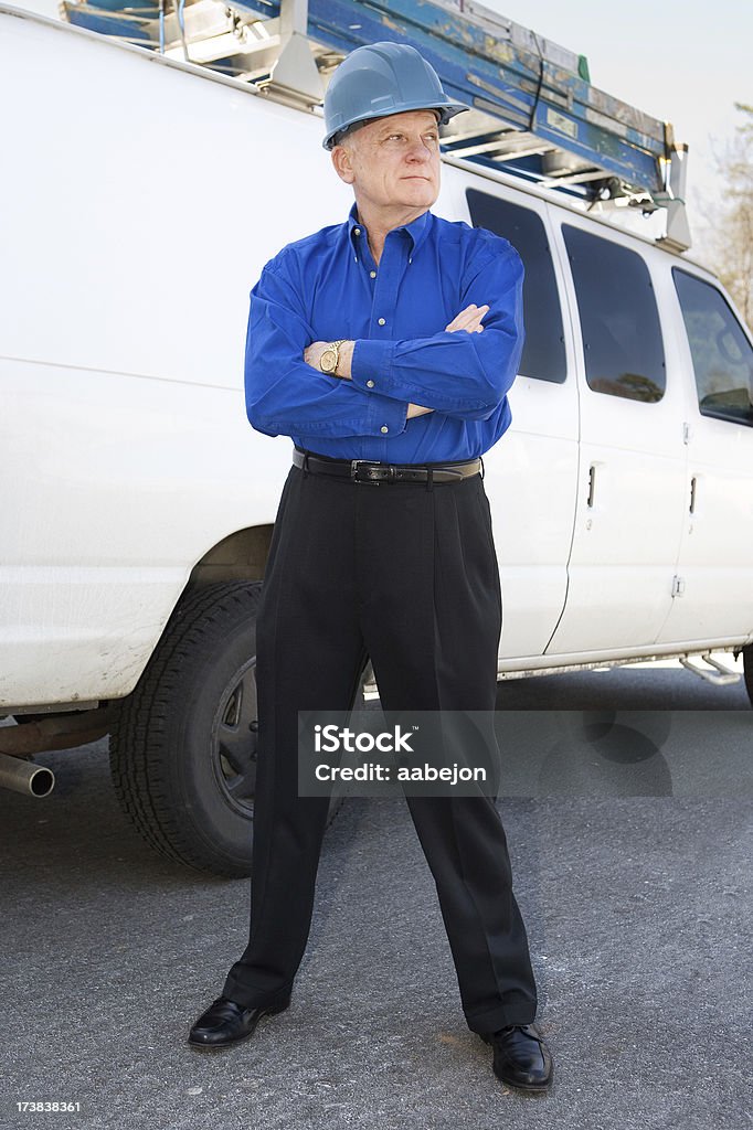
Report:
M583 231L592 226L585 217L556 211L557 249L566 262L563 223ZM595 234L634 251L628 235ZM667 255L644 249L642 258L656 290ZM667 386L658 401L594 391L586 381L572 287L568 293L578 356L581 470L568 603L549 655L600 651L615 642L631 647L656 638L673 599L687 458L681 359L665 341Z

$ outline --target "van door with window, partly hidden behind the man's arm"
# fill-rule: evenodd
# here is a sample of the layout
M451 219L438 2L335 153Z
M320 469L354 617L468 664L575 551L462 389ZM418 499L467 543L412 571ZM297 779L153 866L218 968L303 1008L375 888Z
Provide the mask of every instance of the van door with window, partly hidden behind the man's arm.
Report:
M564 606L578 475L578 390L545 203L475 188L467 190L467 201L471 223L509 240L526 271L526 342L509 393L512 423L484 457L502 581L504 669L505 659L543 655Z

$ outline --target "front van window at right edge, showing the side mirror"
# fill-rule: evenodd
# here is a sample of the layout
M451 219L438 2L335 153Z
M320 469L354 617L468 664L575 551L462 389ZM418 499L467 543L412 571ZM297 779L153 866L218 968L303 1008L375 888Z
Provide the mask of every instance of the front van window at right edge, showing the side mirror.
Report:
M683 312L698 407L704 416L753 424L753 346L715 286L673 267Z

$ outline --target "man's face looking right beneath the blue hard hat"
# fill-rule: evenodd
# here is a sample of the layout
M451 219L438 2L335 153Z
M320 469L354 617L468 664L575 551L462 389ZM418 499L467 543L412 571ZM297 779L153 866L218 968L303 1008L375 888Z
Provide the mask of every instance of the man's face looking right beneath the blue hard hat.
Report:
M332 149L341 180L370 209L431 208L440 190L440 145L433 110L376 118Z

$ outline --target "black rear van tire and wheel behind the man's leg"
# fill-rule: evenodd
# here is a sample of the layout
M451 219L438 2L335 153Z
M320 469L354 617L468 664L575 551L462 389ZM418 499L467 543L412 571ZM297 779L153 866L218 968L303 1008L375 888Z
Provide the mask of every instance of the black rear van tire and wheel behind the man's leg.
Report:
M260 591L246 581L190 590L110 734L115 793L140 835L171 860L232 878L251 873Z

